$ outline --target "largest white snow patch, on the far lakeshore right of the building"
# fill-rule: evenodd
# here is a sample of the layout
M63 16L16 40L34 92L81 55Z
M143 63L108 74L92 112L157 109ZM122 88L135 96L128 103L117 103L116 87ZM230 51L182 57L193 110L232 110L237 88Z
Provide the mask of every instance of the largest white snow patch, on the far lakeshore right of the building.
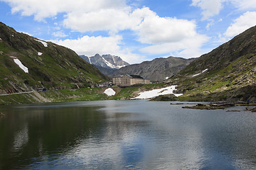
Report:
M132 99L148 99L148 98L154 98L160 95L165 94L174 94L174 90L176 89L176 86L169 86L162 89L154 89L151 91L144 91L142 93L139 93L139 96L132 98ZM174 94L175 96L181 96L183 94Z

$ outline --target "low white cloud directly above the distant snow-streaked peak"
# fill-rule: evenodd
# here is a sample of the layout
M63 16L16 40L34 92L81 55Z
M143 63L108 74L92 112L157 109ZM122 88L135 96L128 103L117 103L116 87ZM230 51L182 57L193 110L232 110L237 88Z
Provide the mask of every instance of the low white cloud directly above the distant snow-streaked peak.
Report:
M122 36L119 35L111 35L110 37L89 37L85 35L76 40L66 39L52 41L58 45L69 47L77 52L78 55L118 55L119 57L122 57L122 60L129 62L130 64L142 62L145 59L144 56L133 54L129 49L121 49L119 45L122 44Z

